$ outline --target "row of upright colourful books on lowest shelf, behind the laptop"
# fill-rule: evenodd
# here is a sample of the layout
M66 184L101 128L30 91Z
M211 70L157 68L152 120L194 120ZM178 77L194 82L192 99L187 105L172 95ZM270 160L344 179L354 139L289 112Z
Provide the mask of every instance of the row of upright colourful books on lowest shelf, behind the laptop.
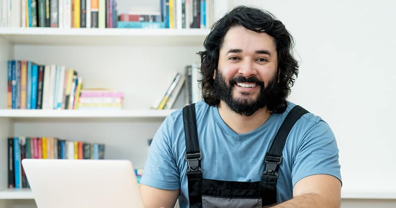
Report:
M34 159L104 159L104 144L54 137L8 138L8 188L28 188L21 161Z

